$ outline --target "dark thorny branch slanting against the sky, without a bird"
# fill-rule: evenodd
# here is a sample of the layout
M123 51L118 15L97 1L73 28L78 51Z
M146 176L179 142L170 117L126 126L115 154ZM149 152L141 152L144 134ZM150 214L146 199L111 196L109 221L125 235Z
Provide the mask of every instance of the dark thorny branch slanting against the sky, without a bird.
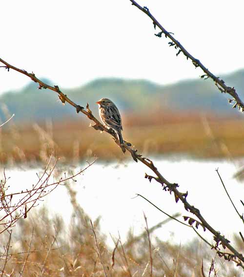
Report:
M169 38L171 42L169 42L169 46L174 46L176 50L178 50L176 56L178 56L181 52L183 55L185 55L186 59L190 59L192 61L192 64L195 67L200 67L205 74L201 76L202 79L208 79L211 78L214 81L214 84L218 87L218 89L221 91L221 93L228 93L230 96L233 97L233 99L229 99L229 103L233 103L233 108L238 107L240 111L244 111L244 103L240 99L239 95L237 94L234 87L230 87L225 85L224 80L220 79L220 77L216 77L212 72L208 70L198 59L194 58L184 47L181 43L179 43L172 35L172 33L166 31L163 26L157 21L157 19L151 14L149 9L147 7L140 6L135 0L130 0L132 5L136 6L138 9L140 9L143 13L145 13L152 21L154 28L156 29L156 26L161 30L158 34L155 34L156 37L161 38L164 34L165 38Z

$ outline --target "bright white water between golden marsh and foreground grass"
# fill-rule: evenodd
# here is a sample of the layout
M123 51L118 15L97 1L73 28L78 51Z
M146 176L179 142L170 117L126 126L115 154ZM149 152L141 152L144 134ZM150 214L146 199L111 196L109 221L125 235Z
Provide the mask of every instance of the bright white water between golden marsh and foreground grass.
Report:
M244 187L233 178L236 171L235 166L224 160L206 161L189 160L187 158L161 158L154 159L155 166L170 182L180 185L179 191L188 191L187 200L191 205L200 209L206 221L217 231L220 231L227 238L231 238L233 232L243 231L243 224L235 213L229 199L227 198L220 179L215 171L219 172L224 180L227 191L242 214L244 207L240 199L244 200ZM84 168L81 164L77 170ZM38 169L29 170L6 170L8 185L11 190L22 190L34 184L37 180ZM75 179L77 182L73 188L77 191L77 200L84 211L95 220L102 216L101 230L108 235L108 242L111 243L109 234L118 237L118 232L125 240L127 231L132 228L134 234L141 234L145 228L143 212L148 221L149 228L167 218L166 215L155 209L136 194L142 194L153 202L164 212L174 214L187 213L180 201L176 204L174 195L164 192L159 183L152 180L151 183L144 178L144 173L152 174L141 163L133 161L123 163L101 163L96 162L85 170L83 175ZM72 207L65 188L59 187L45 198L41 205L46 205L51 214L60 214L68 225ZM183 221L183 218L179 217ZM211 234L201 234L210 239ZM185 243L192 240L196 234L191 228L187 228L175 221L171 221L162 228L156 230L153 236L174 243Z

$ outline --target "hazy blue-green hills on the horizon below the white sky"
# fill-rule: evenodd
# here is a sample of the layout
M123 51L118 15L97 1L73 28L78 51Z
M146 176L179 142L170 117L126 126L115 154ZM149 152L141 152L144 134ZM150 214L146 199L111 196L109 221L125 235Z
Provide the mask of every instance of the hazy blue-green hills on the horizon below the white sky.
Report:
M221 77L226 85L234 86L244 99L244 69ZM53 85L49 80L42 80ZM217 115L238 115L227 103L229 96L221 94L211 80L196 79L172 85L157 85L145 80L98 79L79 88L61 90L81 106L88 102L90 108L96 112L95 102L107 97L114 100L123 112L145 113L163 109L171 112L198 110ZM64 107L61 105L55 92L48 89L39 90L34 82L20 91L1 95L0 103L6 105L11 114L16 114L15 121L34 122L46 118L61 120L64 117L76 116L74 108L68 104ZM0 119L5 119L2 108Z

